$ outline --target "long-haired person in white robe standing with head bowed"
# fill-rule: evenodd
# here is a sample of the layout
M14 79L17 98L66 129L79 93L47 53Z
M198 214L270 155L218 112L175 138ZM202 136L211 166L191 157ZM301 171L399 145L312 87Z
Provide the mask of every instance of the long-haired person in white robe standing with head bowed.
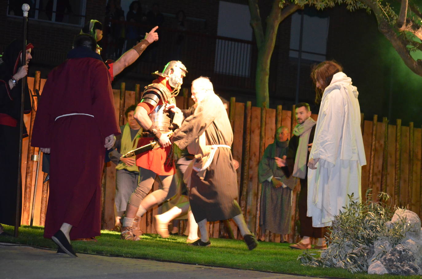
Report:
M348 195L361 200L361 169L366 158L359 93L342 70L335 61L324 61L311 73L321 105L308 161L307 216L317 228L331 225L349 203Z

